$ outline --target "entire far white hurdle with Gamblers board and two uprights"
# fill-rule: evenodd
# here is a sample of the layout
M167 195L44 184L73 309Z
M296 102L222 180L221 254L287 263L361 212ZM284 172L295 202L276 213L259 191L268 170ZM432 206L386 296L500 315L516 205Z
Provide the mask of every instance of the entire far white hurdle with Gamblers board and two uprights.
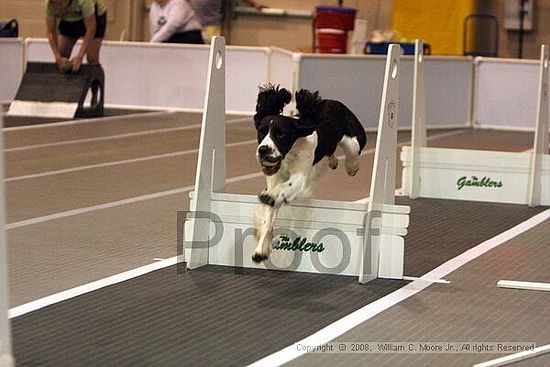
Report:
M418 45L418 44L417 44ZM413 139L403 147L403 194L440 199L550 205L549 61L541 47L537 121L532 152L426 147L422 49L415 55Z

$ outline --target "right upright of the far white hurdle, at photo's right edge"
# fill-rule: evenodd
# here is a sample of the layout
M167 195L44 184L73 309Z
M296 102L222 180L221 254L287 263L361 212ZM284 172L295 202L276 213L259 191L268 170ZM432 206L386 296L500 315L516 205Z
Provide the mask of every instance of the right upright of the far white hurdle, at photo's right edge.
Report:
M542 158L548 154L548 45L540 50L539 98L537 102L537 126L533 153L531 154L531 171L529 174L529 206L540 205L542 191Z

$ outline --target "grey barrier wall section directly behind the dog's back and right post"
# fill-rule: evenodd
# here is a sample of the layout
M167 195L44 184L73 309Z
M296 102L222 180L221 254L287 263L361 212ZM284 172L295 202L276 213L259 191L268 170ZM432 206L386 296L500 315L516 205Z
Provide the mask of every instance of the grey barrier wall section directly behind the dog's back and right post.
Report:
M324 98L343 101L365 128L375 129L380 113L384 56L301 55L298 88L321 91ZM413 59L401 60L399 98L412 100ZM428 127L463 127L471 120L472 59L426 57L426 123ZM412 106L399 107L402 128L410 128Z

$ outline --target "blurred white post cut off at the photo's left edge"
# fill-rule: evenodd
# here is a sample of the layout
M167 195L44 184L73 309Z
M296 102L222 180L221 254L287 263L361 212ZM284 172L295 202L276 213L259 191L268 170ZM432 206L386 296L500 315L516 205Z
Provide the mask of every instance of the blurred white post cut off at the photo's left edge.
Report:
M3 126L0 112L0 126ZM8 318L8 251L6 243L6 210L4 199L4 138L0 135L0 366L13 365L11 357L10 320Z

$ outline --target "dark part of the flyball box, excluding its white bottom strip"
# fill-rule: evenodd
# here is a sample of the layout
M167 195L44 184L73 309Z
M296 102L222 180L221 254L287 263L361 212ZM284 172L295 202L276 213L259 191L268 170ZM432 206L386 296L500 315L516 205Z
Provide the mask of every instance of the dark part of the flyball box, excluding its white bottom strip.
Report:
M103 115L105 74L100 65L84 64L77 72L60 72L53 63L29 62L14 101L77 103L73 117ZM96 106L85 106L88 91L99 88Z

